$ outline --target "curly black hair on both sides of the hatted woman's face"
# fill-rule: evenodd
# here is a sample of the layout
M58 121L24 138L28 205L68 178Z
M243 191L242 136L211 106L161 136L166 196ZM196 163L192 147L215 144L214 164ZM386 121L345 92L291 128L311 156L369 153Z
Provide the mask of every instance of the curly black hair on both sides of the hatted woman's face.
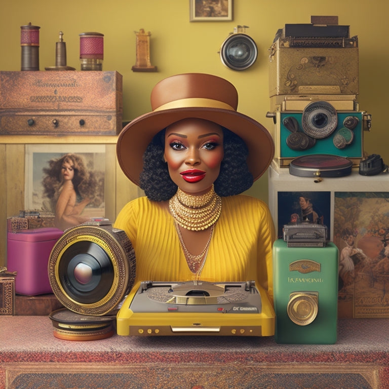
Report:
M222 130L224 157L214 183L215 192L224 197L239 195L253 184L253 176L247 165L248 148L238 135L226 128ZM177 191L177 185L170 178L164 161L164 148L165 130L162 130L153 137L143 154L139 186L152 201L169 200Z

